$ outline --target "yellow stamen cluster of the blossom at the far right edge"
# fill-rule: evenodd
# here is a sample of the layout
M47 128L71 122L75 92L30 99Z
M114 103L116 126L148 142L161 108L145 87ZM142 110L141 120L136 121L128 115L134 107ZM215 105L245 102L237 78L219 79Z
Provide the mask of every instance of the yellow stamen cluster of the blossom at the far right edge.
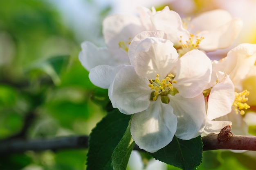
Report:
M241 115L245 114L245 110L249 109L250 106L245 103L248 98L245 96L249 95L249 91L244 90L243 92L237 93L235 92L235 101L233 103L233 109L235 110L236 114L240 113Z

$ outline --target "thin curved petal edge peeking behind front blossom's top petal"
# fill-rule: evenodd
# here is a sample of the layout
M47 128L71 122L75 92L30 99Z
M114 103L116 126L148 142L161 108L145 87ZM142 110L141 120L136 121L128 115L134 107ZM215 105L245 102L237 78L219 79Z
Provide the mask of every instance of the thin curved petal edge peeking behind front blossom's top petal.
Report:
M163 31L143 31L135 36L129 45L129 58L131 65L134 66L135 53L139 43L148 37L156 37L166 39L166 35Z

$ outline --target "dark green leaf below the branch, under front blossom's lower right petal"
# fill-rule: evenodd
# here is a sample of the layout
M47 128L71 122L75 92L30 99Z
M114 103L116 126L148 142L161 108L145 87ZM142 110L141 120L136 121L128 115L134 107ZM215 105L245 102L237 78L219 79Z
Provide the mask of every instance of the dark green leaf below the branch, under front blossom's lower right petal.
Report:
M202 161L203 143L201 136L191 140L178 139L176 136L164 148L150 153L155 159L183 170L196 169Z

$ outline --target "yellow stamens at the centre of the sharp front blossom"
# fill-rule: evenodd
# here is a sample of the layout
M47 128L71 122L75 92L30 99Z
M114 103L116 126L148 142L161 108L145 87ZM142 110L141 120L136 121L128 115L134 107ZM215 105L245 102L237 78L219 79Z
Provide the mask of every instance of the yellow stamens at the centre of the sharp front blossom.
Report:
M157 100L157 96L160 94L162 96L167 96L170 92L173 92L173 83L177 83L173 80L174 75L168 74L162 81L159 80L159 75L157 74L155 80L150 79L150 84L148 86L151 90L154 90L153 101ZM164 102L166 103L166 102Z

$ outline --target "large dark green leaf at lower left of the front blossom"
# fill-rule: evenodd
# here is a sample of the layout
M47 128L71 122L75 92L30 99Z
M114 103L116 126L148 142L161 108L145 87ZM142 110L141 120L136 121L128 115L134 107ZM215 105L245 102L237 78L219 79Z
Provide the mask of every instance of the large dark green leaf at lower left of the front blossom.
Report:
M115 109L92 130L89 138L87 170L112 170L111 156L126 132L130 115Z

